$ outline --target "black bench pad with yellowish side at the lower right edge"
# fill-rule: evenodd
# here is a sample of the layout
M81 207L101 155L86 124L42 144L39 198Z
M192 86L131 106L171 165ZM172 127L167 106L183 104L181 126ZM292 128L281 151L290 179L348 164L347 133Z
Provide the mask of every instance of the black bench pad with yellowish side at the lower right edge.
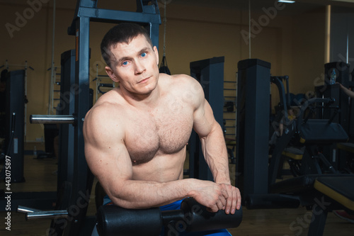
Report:
M354 210L354 176L319 176L314 188L350 210Z

